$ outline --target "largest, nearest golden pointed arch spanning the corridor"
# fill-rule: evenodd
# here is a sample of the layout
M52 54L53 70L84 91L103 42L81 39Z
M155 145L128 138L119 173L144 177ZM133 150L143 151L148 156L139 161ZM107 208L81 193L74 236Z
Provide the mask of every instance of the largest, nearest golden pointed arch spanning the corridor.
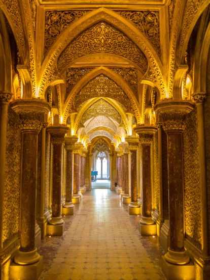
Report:
M40 71L39 80L41 92L44 91L44 89L48 85L53 75L53 71L56 67L57 59L64 48L79 34L88 29L88 27L91 27L93 24L101 20L104 20L116 27L118 30L123 32L133 43L135 43L137 47L145 53L149 64L153 66L153 74L159 77L163 77L163 66L160 58L146 36L141 31L139 31L133 23L123 18L116 12L106 8L99 8L85 14L76 22L69 25L69 27L62 33L61 36L58 37L58 39L52 45L49 53L46 55Z

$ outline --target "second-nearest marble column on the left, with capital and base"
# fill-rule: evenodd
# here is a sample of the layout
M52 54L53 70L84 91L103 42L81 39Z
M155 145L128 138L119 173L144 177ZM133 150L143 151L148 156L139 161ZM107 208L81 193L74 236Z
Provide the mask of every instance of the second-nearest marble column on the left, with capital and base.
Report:
M62 158L64 136L68 127L64 125L49 126L52 144L52 218L48 222L48 235L63 234L63 219L61 215L61 193L62 193Z

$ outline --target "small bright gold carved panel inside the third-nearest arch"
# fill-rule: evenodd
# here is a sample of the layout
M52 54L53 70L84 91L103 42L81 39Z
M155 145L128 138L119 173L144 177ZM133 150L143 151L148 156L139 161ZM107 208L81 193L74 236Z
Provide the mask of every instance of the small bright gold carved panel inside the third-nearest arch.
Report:
M93 103L84 113L81 119L81 123L84 124L90 118L96 116L107 116L116 120L119 124L122 121L122 118L118 111L106 100L100 99Z

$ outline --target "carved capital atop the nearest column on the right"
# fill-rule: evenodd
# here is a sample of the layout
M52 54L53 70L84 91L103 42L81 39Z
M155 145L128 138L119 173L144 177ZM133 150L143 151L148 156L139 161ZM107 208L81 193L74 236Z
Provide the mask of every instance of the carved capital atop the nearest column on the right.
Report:
M156 114L166 132L182 132L185 129L185 118L193 108L194 103L184 100L164 100L155 105Z

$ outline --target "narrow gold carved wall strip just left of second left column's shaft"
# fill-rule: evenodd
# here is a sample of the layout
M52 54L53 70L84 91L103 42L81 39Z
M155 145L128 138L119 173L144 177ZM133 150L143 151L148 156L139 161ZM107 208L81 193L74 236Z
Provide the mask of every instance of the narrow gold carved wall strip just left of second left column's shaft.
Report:
M49 189L50 189L50 134L46 132L45 150L45 211L49 208Z

